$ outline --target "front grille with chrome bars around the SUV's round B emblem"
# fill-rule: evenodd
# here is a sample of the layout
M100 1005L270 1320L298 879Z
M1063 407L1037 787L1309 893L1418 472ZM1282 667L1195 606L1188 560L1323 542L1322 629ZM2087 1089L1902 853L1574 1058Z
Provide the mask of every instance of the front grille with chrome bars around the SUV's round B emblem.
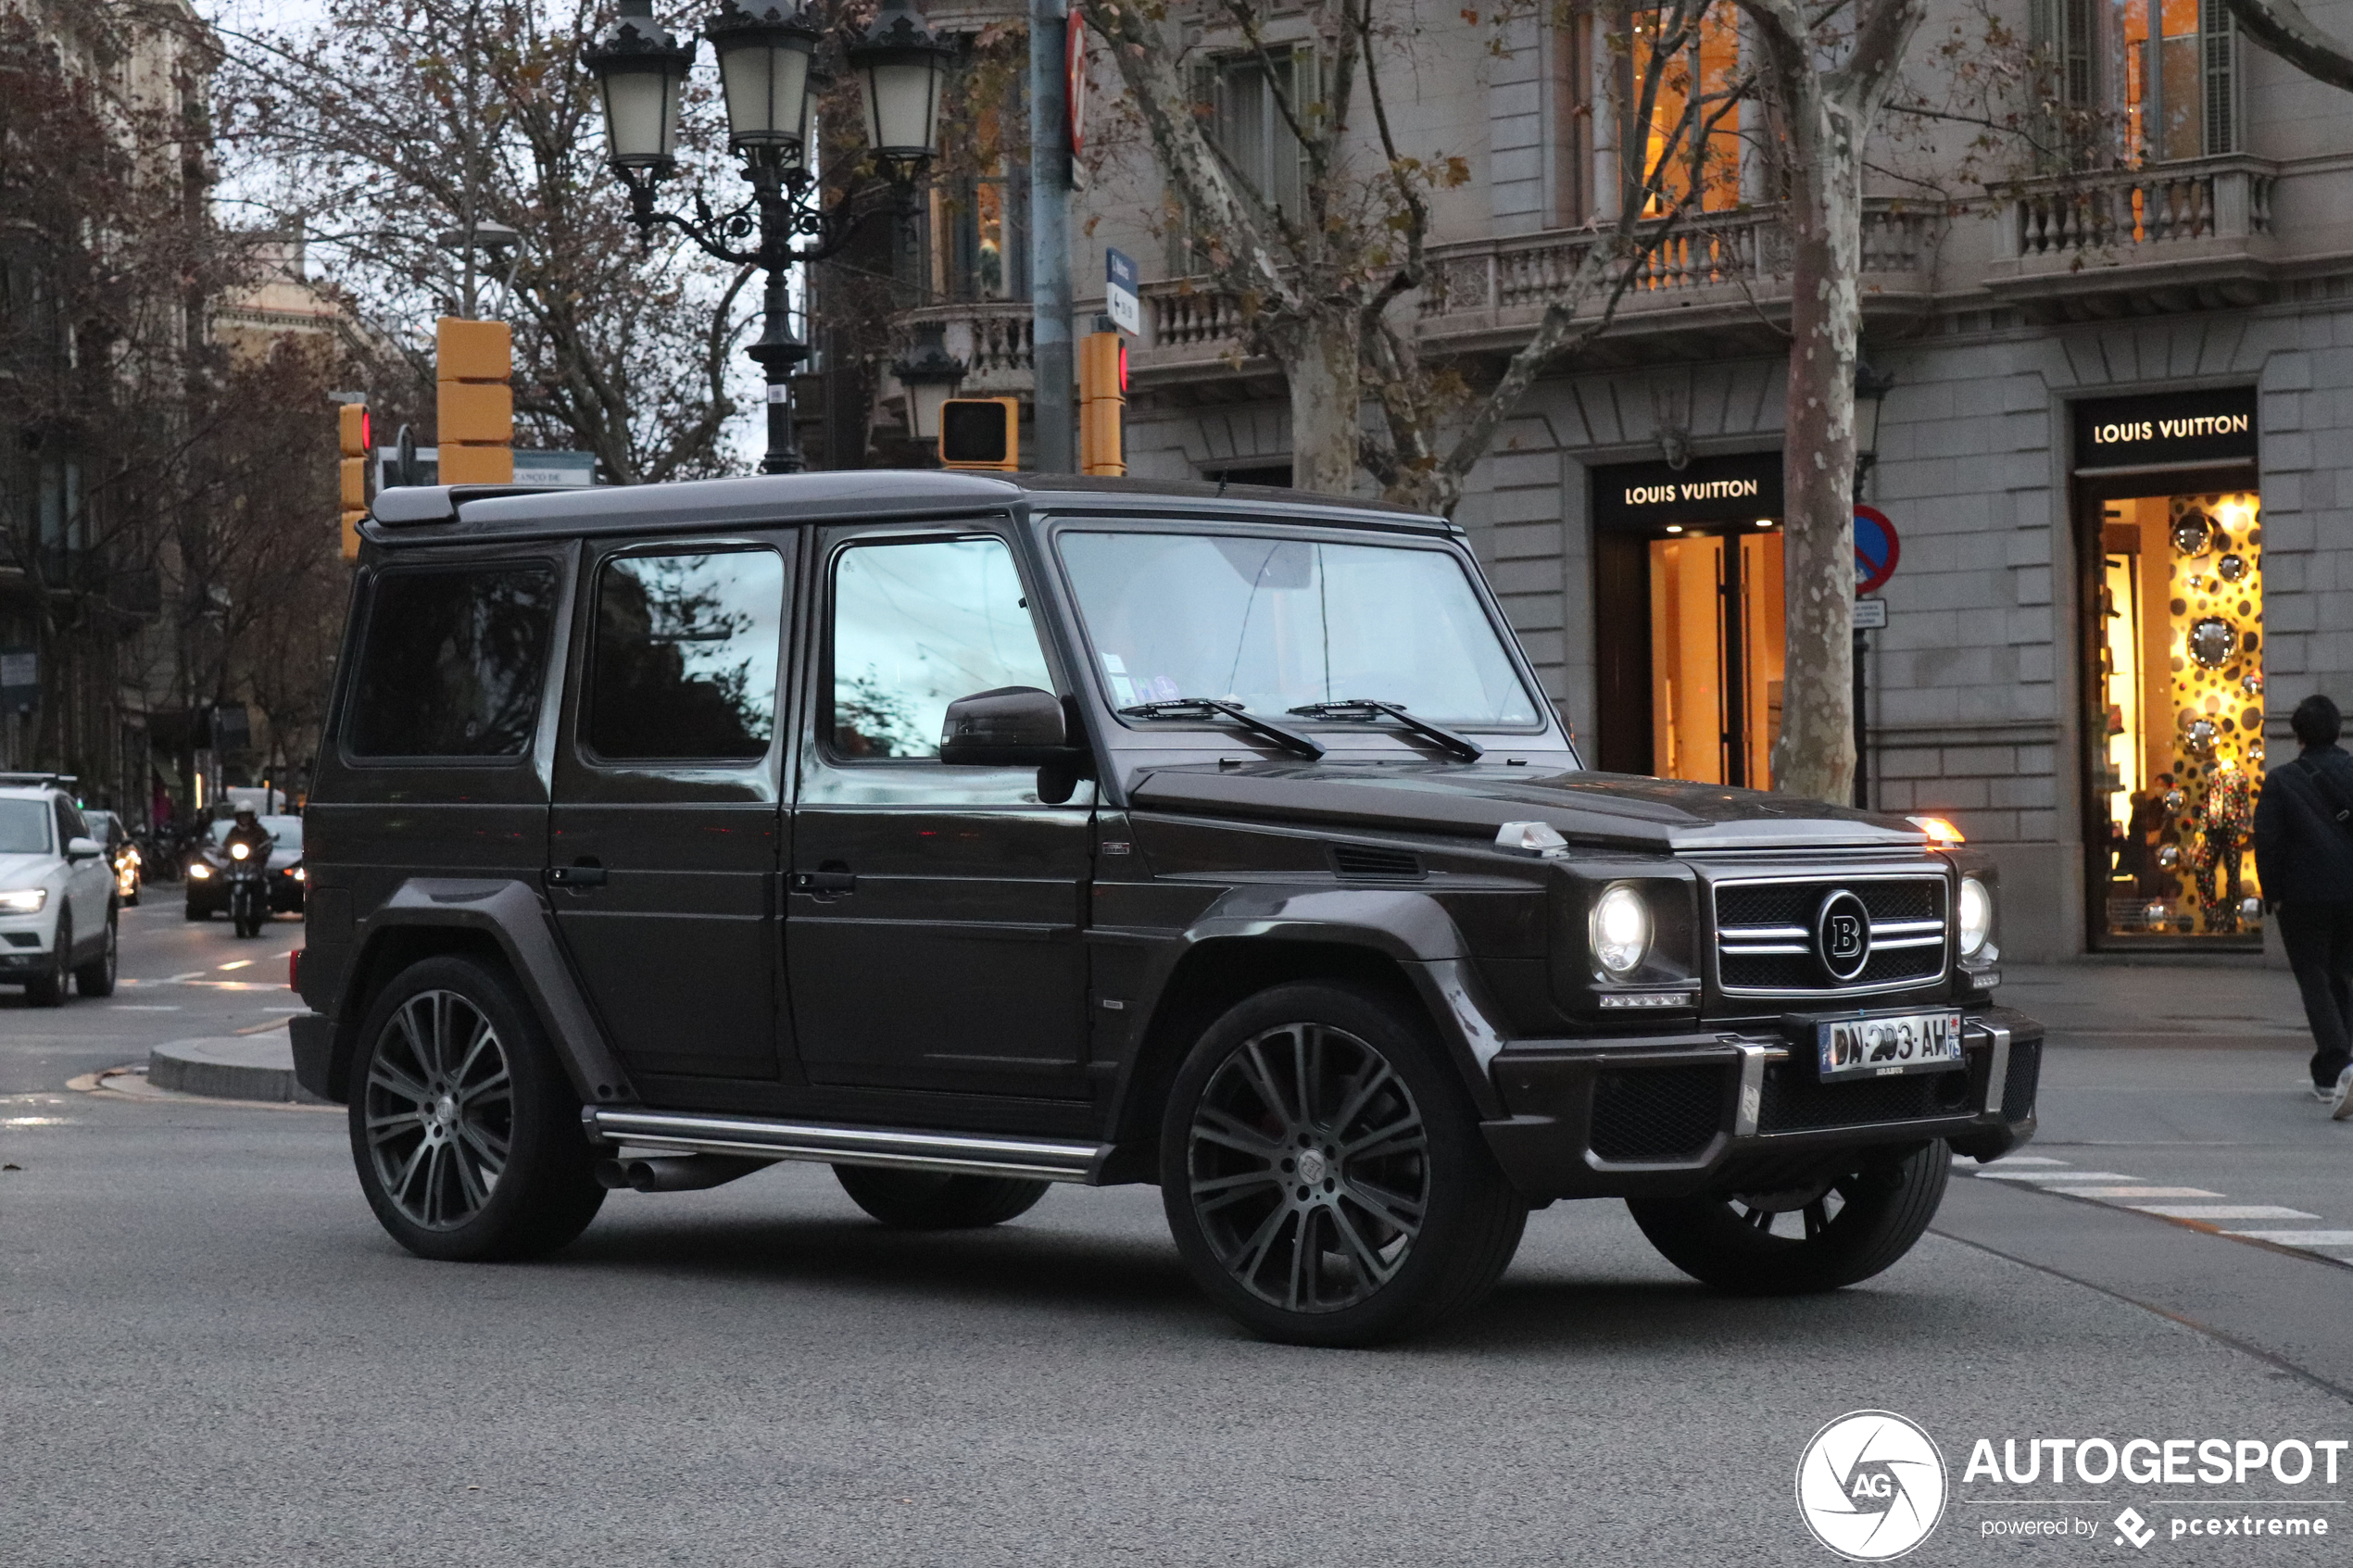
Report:
M1871 914L1871 957L1833 980L1814 957L1814 914L1845 889ZM1939 875L1718 882L1715 983L1734 994L1833 994L1922 985L1944 976L1946 882Z

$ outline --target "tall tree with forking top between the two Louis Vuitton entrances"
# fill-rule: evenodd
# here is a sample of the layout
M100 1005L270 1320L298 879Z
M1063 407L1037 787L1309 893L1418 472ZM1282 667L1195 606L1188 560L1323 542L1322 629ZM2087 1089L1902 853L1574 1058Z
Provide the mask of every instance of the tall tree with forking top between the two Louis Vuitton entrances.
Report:
M1788 654L1774 788L1854 795L1854 367L1864 169L1925 0L1737 0L1762 54L1791 240L1784 515Z

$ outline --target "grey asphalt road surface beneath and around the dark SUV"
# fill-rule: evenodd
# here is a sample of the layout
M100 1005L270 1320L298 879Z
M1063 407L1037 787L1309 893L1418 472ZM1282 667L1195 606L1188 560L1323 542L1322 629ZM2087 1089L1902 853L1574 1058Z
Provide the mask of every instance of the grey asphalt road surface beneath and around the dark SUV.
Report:
M273 1027L294 936L160 900L115 1001L0 992L5 1563L1831 1563L1793 1472L1859 1408L1946 1460L1908 1561L2144 1556L2127 1505L2165 1561L2341 1561L2353 1533L2353 1455L2337 1486L1965 1476L1979 1439L2353 1439L2346 1265L2033 1190L2353 1229L2353 1126L2294 1095L2261 971L2014 976L2073 1025L2028 1152L2061 1164L1958 1171L1864 1288L1711 1295L1621 1206L1560 1204L1447 1338L1304 1352L1191 1293L1146 1187L906 1237L784 1166L616 1194L546 1262L428 1265L376 1229L336 1112L66 1088ZM2169 1535L2226 1505L2332 1535ZM2021 1521L2087 1533L1988 1535Z

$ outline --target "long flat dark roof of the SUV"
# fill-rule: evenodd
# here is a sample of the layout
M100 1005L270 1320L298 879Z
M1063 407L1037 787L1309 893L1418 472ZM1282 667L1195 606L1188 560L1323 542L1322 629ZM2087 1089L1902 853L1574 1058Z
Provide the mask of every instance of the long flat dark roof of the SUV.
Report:
M894 517L988 517L1007 510L1186 515L1327 527L1461 534L1384 501L1311 496L1261 484L1108 480L1082 475L974 475L934 468L755 475L593 489L409 484L376 491L367 536L381 545L647 534L671 529L774 529Z

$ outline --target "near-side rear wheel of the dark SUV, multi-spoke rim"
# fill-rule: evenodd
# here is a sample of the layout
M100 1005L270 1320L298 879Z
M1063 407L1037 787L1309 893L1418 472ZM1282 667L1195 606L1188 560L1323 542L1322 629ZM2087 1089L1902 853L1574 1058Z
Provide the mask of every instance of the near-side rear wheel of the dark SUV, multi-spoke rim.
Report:
M539 1020L504 971L471 957L412 964L367 1011L351 1157L376 1220L419 1258L553 1253L605 1201Z

